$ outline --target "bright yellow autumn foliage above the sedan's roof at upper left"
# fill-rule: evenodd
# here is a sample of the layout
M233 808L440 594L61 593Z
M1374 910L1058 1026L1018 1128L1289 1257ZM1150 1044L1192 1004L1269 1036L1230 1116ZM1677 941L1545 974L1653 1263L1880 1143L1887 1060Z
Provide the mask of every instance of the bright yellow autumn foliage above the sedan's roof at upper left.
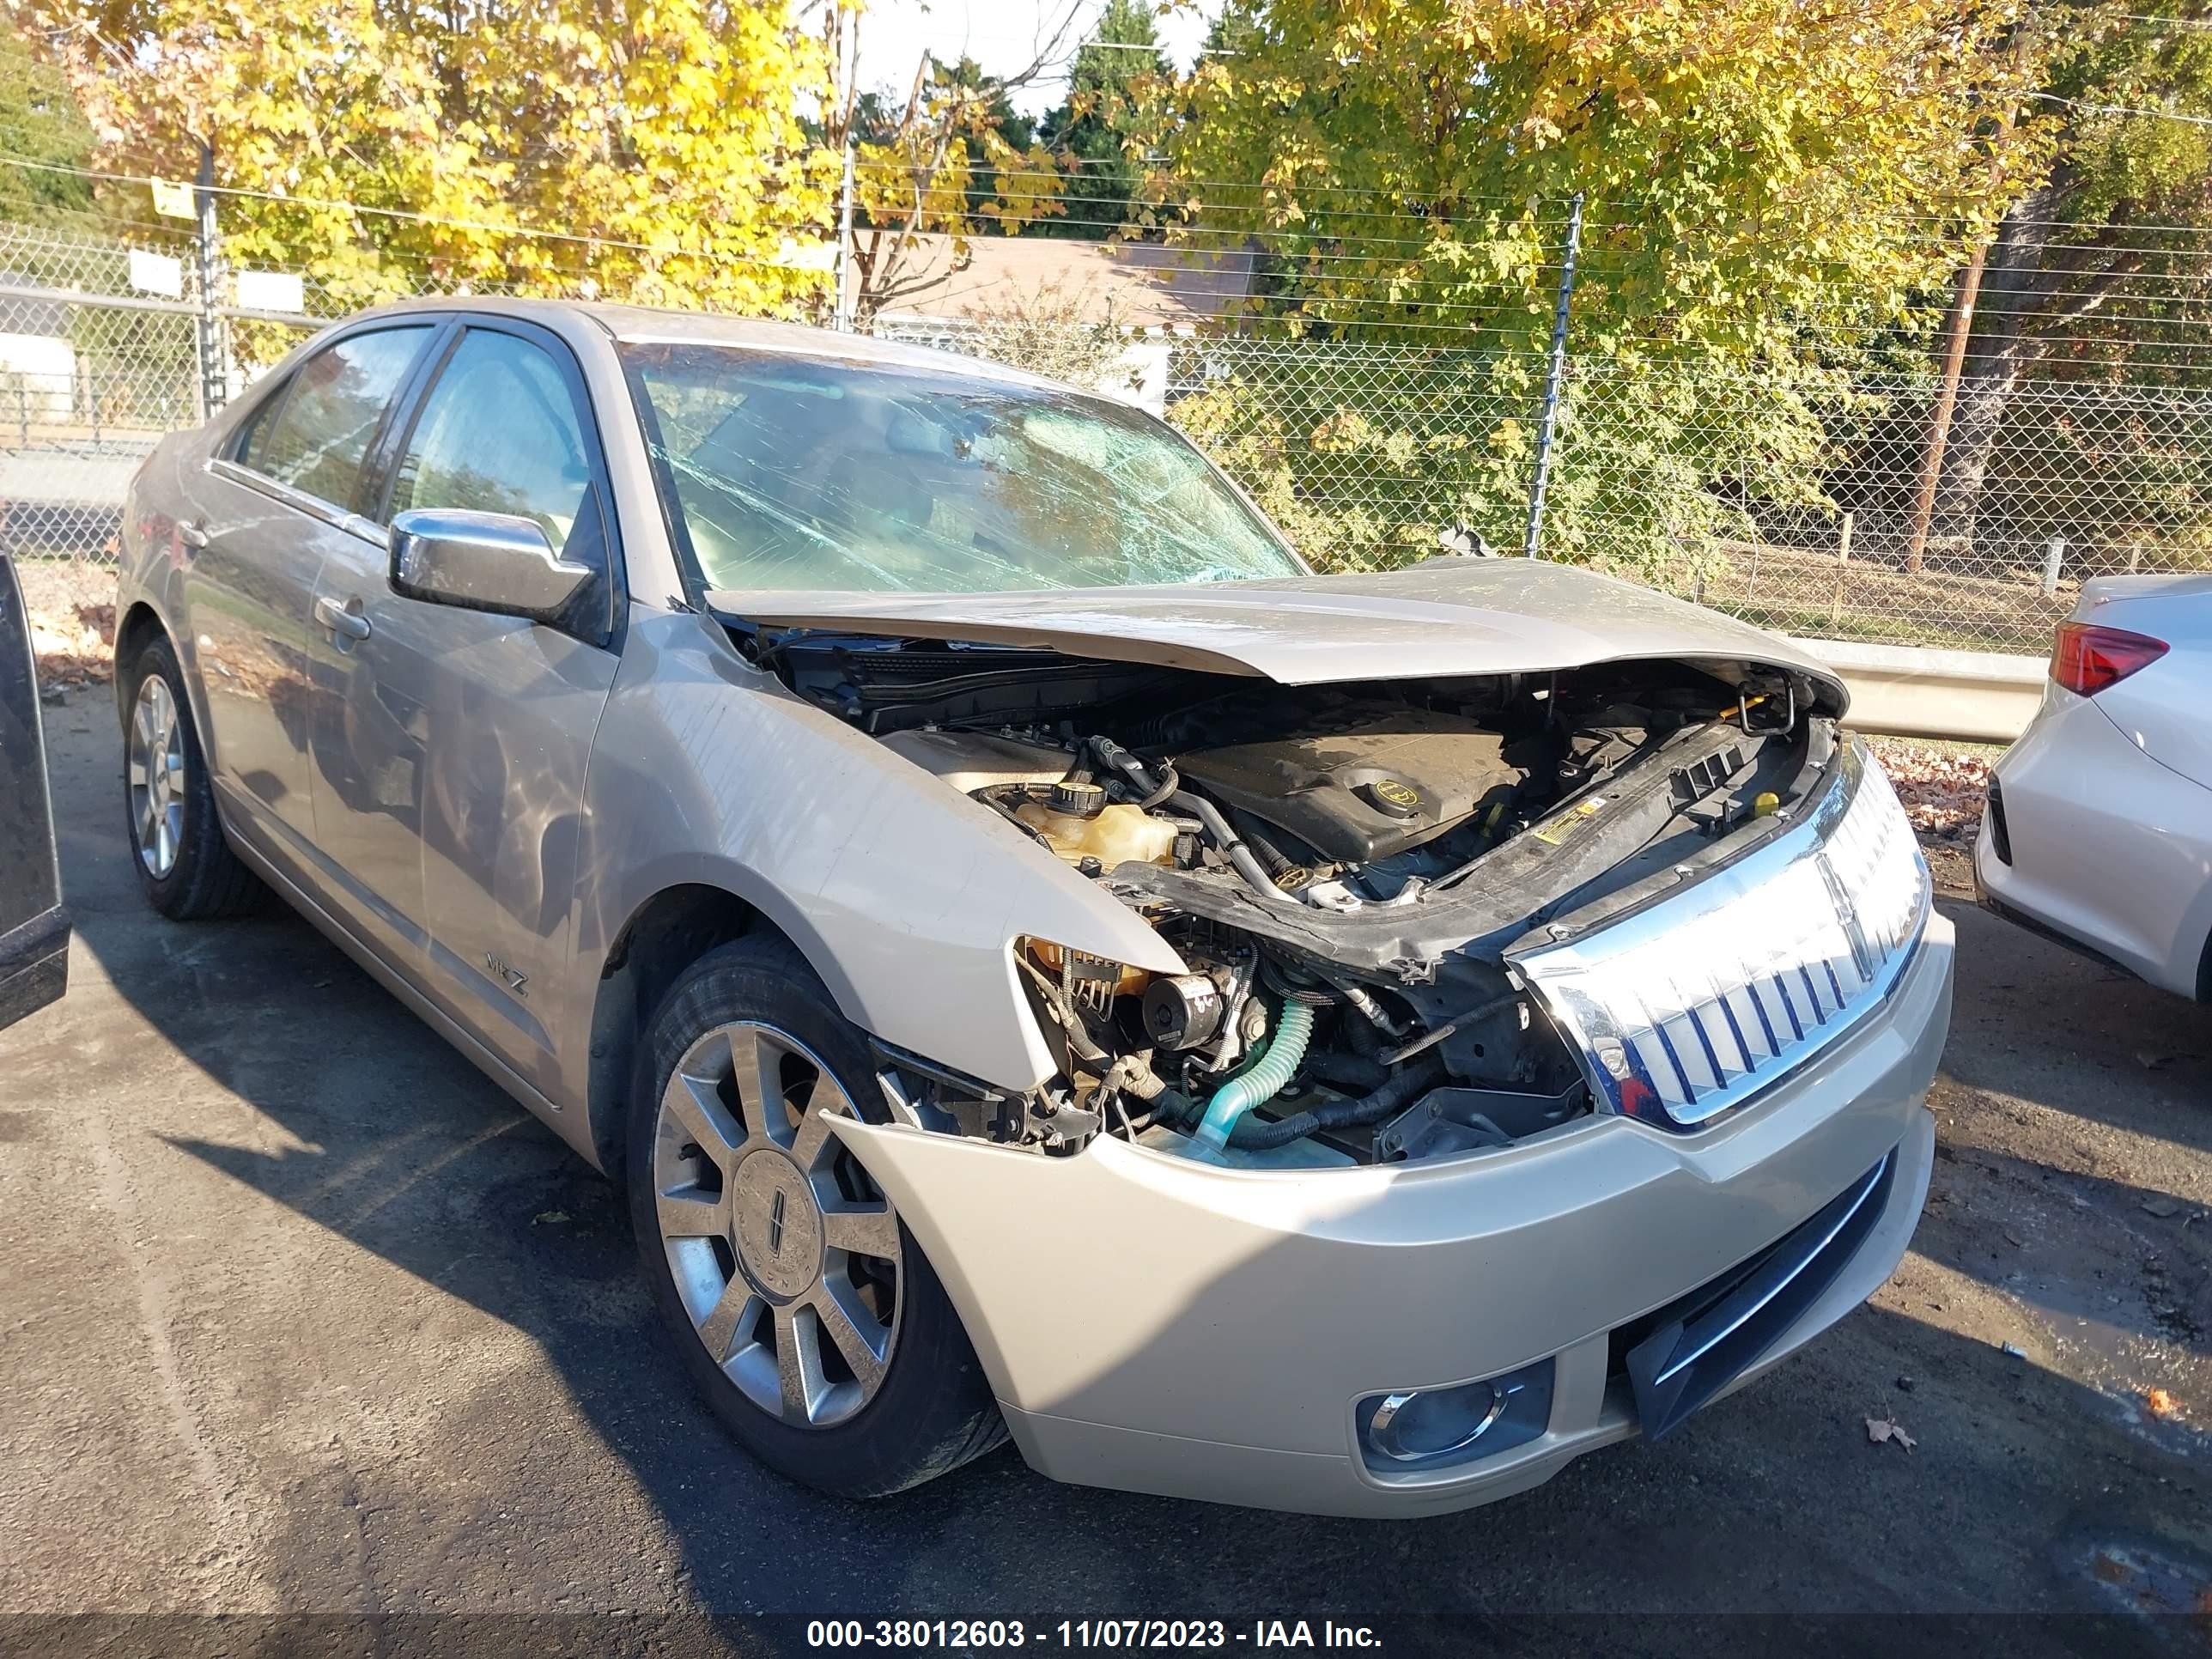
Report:
M334 305L431 288L818 310L836 157L790 0L18 0L117 173L212 146L234 263Z

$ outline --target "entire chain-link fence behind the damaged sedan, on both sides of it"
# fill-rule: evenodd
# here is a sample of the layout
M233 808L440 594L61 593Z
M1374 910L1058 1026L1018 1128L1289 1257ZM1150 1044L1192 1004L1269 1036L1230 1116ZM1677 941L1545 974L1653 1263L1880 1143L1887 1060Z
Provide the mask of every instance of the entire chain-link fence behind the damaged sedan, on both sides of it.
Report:
M237 394L363 299L292 276L285 307L239 305L268 285L219 270L201 294L186 230L0 223L0 546L104 582L133 469L204 418L199 330ZM1537 356L1075 319L878 332L1155 409L1325 571L1431 557L1447 531L1522 546ZM1801 637L2042 655L2084 577L2212 568L2212 396L2051 372L1969 380L1938 422L1931 376L1571 356L1542 546Z

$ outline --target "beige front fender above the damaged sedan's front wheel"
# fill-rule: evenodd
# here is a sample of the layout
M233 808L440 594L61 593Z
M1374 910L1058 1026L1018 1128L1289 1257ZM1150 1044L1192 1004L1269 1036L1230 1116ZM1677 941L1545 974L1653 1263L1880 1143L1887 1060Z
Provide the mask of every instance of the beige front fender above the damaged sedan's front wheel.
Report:
M754 670L692 613L635 606L584 794L564 1006L586 1029L608 947L679 883L759 909L863 1031L1002 1088L1053 1075L1013 967L1018 936L1183 971L1133 911L989 807ZM573 1064L582 1082L582 1055Z

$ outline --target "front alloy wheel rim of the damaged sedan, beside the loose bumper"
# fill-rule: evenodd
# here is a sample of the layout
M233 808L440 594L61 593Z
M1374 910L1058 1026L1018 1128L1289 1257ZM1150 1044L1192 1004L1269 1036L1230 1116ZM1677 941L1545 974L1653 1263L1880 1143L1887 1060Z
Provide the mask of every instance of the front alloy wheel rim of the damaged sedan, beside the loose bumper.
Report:
M843 1141L858 1117L796 1037L737 1020L661 1093L661 1248L708 1356L761 1411L825 1429L865 1407L898 1336L898 1217Z

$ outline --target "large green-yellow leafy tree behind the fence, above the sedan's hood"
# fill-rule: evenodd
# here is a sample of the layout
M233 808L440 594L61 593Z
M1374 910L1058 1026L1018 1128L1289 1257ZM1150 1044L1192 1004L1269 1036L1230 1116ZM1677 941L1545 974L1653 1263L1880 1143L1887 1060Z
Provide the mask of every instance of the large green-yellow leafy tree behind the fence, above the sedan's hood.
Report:
M1274 458L1248 478L1356 522L1327 557L1420 555L1453 515L1517 546L1584 192L1546 551L1670 575L1752 498L1818 504L1838 347L1924 310L2046 142L1993 117L2031 84L2015 22L2015 0L1232 0L1148 100L1146 195L1190 248L1261 250L1259 316L1365 347L1345 396L1318 369L1217 374Z

